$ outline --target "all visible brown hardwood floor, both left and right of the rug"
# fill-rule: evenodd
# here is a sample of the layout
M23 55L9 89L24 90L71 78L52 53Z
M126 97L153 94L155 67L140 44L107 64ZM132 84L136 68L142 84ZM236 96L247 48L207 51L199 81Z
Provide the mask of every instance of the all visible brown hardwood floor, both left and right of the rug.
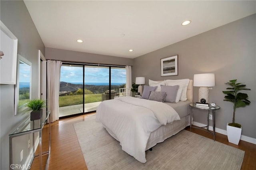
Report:
M51 152L50 160L48 164L48 170L87 170L86 162L76 132L73 127L73 123L84 121L88 115L80 115L76 117L70 117L66 119L60 119L51 124ZM47 150L48 147L48 126L43 130L43 150ZM186 130L190 130L189 127ZM192 132L200 134L207 138L213 138L212 134L204 132L203 130L192 128ZM240 140L239 145L231 144L228 142L227 136L216 133L216 141L239 148L245 151L244 160L242 164L242 170L255 170L256 169L256 145ZM43 162L46 162L46 155L43 157ZM31 170L39 169L39 160L35 158ZM43 167L44 169L44 167Z

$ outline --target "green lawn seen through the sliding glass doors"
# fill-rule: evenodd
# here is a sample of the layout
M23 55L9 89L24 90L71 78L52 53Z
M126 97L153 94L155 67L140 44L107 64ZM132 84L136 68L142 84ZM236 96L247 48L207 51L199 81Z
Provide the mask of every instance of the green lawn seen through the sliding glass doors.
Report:
M84 95L84 101L85 103L93 103L93 102L101 101L101 93ZM59 98L60 107L80 105L80 104L83 104L83 95L60 96Z

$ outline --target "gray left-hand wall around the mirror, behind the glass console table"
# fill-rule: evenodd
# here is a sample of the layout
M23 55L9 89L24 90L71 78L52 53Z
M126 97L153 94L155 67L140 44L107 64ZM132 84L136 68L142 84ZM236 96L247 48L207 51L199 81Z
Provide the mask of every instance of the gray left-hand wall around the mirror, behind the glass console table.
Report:
M42 42L30 14L23 1L0 1L0 19L4 25L18 38L18 53L32 63L32 98L38 97L38 50L45 54ZM1 135L1 170L9 169L8 134L29 115L14 116L14 85L0 85L0 135ZM20 158L24 150L23 164L28 155L29 136L17 138L14 153Z

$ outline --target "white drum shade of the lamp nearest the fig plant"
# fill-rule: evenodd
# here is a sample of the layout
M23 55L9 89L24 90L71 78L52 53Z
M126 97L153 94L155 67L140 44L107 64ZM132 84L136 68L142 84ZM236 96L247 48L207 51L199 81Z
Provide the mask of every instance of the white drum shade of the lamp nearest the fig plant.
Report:
M194 74L195 87L214 87L215 75L214 73Z

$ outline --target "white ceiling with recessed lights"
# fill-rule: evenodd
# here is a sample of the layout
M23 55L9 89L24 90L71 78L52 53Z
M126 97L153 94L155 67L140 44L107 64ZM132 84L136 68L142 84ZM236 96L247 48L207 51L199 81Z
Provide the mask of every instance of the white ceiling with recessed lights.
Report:
M236 0L24 2L46 47L127 58L256 13L256 1Z

